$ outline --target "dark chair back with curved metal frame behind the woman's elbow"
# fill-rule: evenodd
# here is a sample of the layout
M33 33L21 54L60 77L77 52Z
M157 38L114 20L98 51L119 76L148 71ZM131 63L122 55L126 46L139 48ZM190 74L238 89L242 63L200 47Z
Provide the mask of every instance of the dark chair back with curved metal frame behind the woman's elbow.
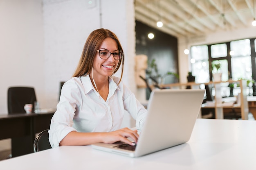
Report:
M49 129L46 129L38 134L34 140L33 148L34 152L39 152L41 150L46 150L52 148L49 142Z

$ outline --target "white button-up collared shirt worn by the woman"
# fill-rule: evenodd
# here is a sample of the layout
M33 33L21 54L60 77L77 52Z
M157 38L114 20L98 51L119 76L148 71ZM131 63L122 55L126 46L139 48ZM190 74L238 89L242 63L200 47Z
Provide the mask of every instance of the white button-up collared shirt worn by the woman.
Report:
M120 129L124 111L136 120L136 128L143 126L147 110L119 78L109 77L107 100L94 89L89 76L73 77L61 90L57 111L52 117L49 142L59 146L71 131L110 132Z

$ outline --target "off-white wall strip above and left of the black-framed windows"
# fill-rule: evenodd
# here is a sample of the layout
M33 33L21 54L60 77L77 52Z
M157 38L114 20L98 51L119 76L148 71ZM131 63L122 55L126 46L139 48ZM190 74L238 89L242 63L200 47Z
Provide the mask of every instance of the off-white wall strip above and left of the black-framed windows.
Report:
M193 36L185 39L184 37L178 38L178 59L179 59L179 72L180 82L186 83L186 76L190 70L189 55L184 54L184 49L204 44L222 43L226 41L233 41L238 39L255 38L256 27L231 29L222 32L211 33L202 36Z

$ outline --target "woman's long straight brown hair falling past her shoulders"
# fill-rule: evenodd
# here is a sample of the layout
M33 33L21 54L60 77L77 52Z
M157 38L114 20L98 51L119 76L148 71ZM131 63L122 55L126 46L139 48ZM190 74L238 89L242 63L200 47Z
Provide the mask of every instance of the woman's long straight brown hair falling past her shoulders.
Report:
M90 72L92 71L94 56L95 56L97 50L99 50L99 47L101 46L102 42L106 38L114 39L117 42L118 50L123 52L123 48L117 38L117 35L115 35L115 33L112 33L108 29L104 29L104 28L94 30L94 31L92 31L92 33L90 33L89 37L87 38L87 40L85 42L81 58L79 60L78 66L76 68L76 71L74 72L73 77L86 76L86 75L90 74ZM120 68L120 66L122 69L121 77L120 77L120 81L121 81L122 76L123 76L123 69L124 69L124 54L121 57L121 59L119 60L117 68L115 69L114 73L117 72L117 70ZM119 83L120 83L120 81L119 81Z

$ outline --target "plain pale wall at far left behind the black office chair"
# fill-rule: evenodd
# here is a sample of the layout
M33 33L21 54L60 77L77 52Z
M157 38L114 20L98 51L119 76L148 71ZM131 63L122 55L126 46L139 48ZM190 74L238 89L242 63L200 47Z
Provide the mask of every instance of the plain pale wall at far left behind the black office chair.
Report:
M44 94L43 15L40 0L0 0L0 114L7 114L9 86Z

